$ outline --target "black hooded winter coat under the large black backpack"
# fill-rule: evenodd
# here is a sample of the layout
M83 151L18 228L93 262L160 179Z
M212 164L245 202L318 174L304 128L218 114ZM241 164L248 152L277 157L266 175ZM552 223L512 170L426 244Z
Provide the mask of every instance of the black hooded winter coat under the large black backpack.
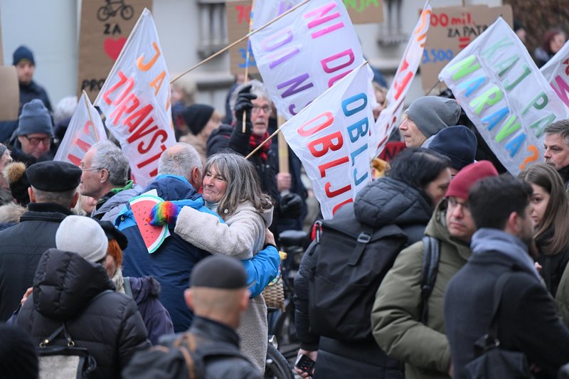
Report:
M349 207L351 205L344 205L336 215L343 215ZM422 237L432 208L420 191L401 181L383 177L369 183L358 193L353 203L353 213L360 223L373 228L398 225L408 235L407 245L411 245ZM299 272L294 277L294 305L301 348L308 351L318 349L314 378L403 378L403 365L389 358L373 338L350 343L316 336L309 331L308 282L316 261L315 254L308 253L311 247L302 257Z

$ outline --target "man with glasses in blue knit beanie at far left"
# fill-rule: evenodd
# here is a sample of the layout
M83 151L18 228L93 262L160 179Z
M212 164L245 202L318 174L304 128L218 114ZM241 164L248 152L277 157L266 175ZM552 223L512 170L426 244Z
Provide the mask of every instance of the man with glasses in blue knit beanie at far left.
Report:
M14 161L30 166L36 162L53 160L52 140L53 122L43 102L34 99L24 104L18 119L18 129L10 140Z

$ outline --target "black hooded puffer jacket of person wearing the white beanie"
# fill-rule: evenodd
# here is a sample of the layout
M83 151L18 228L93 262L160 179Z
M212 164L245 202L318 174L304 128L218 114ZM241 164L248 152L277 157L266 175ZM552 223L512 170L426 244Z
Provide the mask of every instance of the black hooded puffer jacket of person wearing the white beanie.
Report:
M97 361L92 378L119 378L132 355L149 348L147 330L130 297L111 292L115 286L102 265L73 252L46 251L33 280L33 294L16 323L39 343L63 322L75 346L87 348ZM65 345L63 336L53 341Z

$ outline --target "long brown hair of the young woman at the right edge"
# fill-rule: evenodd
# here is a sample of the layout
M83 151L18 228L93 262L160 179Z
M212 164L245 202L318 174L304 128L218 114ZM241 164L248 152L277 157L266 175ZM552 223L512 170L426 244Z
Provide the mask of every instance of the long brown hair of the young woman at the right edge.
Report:
M541 252L546 255L562 252L569 246L569 199L563 179L548 164L534 164L522 171L519 177L549 193L546 213L536 225L537 230L533 235L536 241L544 238L543 243L538 244Z

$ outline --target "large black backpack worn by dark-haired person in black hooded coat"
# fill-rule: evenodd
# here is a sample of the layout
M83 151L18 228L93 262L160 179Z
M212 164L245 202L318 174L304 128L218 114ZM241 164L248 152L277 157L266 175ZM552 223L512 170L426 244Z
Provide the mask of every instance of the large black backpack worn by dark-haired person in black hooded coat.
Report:
M319 230L320 229L320 230ZM408 237L397 225L359 223L353 204L317 224L309 275L310 331L340 341L371 338L371 308L379 284Z

